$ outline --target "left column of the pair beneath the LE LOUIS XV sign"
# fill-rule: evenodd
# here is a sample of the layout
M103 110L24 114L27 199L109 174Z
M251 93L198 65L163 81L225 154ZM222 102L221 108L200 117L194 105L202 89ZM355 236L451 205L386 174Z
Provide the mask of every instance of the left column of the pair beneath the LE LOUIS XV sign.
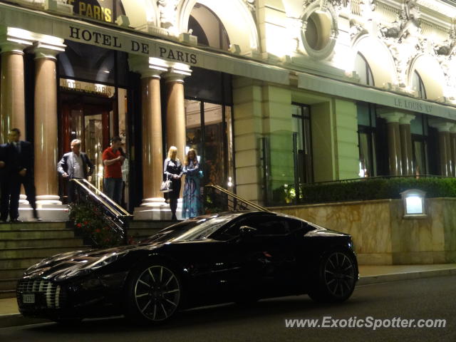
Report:
M390 175L402 175L402 150L400 148L399 121L403 113L380 113L388 123L388 160L390 166Z

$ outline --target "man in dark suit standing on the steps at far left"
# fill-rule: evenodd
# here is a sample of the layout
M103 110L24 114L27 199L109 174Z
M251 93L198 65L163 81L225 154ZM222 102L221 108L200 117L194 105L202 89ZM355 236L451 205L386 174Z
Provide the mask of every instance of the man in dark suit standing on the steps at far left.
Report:
M21 131L12 128L6 144L6 172L1 189L0 219L6 221L8 214L10 222L19 221L19 195L21 185L24 185L28 203L33 209L33 217L39 220L36 212L35 181L33 177L33 147L30 142L19 140Z

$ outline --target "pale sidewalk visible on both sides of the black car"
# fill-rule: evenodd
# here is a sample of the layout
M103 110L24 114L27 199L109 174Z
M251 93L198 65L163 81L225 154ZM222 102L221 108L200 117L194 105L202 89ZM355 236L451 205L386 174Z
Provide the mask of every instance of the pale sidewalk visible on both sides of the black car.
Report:
M456 274L456 264L359 266L358 286ZM46 322L19 314L16 298L0 299L0 328Z

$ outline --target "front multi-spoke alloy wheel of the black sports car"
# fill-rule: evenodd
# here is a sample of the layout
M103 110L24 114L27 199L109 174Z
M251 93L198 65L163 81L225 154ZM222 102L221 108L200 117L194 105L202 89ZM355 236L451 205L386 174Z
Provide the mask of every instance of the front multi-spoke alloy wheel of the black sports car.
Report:
M162 265L147 266L135 278L133 289L138 313L150 321L165 321L180 304L180 281L171 269Z

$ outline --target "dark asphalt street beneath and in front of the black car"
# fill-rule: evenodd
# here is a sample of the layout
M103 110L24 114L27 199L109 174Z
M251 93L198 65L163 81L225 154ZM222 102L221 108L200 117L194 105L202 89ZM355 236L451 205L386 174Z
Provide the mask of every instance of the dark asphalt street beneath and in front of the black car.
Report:
M134 326L123 318L87 320L79 326L14 326L0 328L0 341L455 342L455 284L454 274L361 284L343 304L316 304L308 296L289 296L249 306L227 304L183 311L162 326ZM287 321L295 319L314 320L320 327L286 327ZM428 326L418 327L420 320ZM347 323L360 321L364 325ZM378 322L378 326L368 322Z

